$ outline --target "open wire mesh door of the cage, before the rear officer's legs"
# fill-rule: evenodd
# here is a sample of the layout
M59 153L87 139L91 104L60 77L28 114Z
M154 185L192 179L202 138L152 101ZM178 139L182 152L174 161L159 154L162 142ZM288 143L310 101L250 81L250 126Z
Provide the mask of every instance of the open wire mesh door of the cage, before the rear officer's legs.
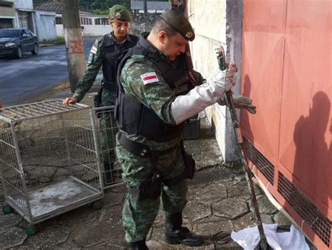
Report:
M97 152L101 162L104 188L122 183L122 170L116 161L115 146L118 127L114 118L114 106L91 109Z

